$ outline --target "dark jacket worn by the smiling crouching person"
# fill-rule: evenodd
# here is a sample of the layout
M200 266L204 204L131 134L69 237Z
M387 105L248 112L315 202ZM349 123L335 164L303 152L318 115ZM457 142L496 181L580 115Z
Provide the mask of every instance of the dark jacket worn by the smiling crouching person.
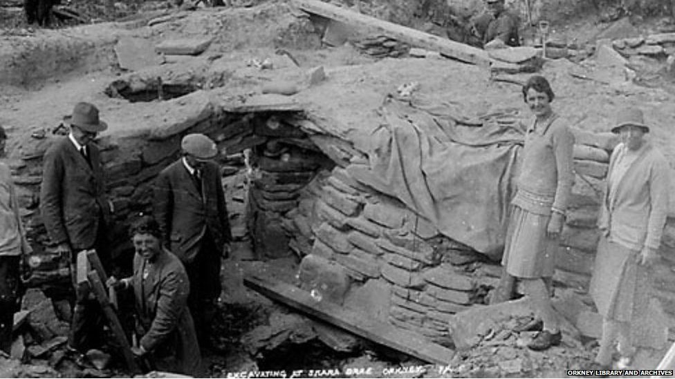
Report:
M140 345L150 352L157 369L199 375L201 355L187 309L189 280L181 261L169 251L161 251L152 264L136 254L131 286L145 332Z

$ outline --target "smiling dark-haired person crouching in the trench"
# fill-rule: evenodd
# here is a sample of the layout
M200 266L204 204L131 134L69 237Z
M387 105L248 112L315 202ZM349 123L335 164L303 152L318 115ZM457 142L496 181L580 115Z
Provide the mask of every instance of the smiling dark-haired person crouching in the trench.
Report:
M136 255L133 276L108 286L133 289L140 330L135 356L148 358L153 369L185 373L198 378L204 375L192 316L187 310L189 281L178 257L160 244L157 222L143 216L130 231Z

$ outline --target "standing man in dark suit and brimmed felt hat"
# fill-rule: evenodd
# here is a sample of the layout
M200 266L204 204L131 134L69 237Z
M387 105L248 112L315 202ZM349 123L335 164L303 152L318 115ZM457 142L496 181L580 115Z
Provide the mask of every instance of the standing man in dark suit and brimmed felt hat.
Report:
M98 117L98 108L77 103L73 114L64 119L71 133L56 142L44 155L40 208L50 240L58 253L71 260L75 278L77 252L95 249L109 271L106 220L110 205L104 193L101 157L93 139L107 124ZM73 280L75 283L75 280ZM102 312L89 291L75 286L75 309L68 348L82 353L102 343Z

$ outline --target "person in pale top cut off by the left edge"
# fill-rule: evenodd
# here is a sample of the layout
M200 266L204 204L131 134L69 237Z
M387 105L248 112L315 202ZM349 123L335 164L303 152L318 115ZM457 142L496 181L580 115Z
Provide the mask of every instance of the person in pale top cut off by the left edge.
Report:
M0 157L7 135L0 126ZM14 313L21 306L21 255L33 251L19 216L17 191L10 168L0 162L0 350L10 353Z

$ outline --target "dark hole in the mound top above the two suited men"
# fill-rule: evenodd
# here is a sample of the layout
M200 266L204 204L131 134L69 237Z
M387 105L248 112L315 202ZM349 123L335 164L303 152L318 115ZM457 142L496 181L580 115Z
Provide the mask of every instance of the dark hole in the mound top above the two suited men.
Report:
M165 84L158 78L140 88L131 88L126 81L113 81L104 92L109 97L127 99L131 103L136 103L139 101L149 102L176 99L177 97L193 93L198 89L199 87L194 84Z

